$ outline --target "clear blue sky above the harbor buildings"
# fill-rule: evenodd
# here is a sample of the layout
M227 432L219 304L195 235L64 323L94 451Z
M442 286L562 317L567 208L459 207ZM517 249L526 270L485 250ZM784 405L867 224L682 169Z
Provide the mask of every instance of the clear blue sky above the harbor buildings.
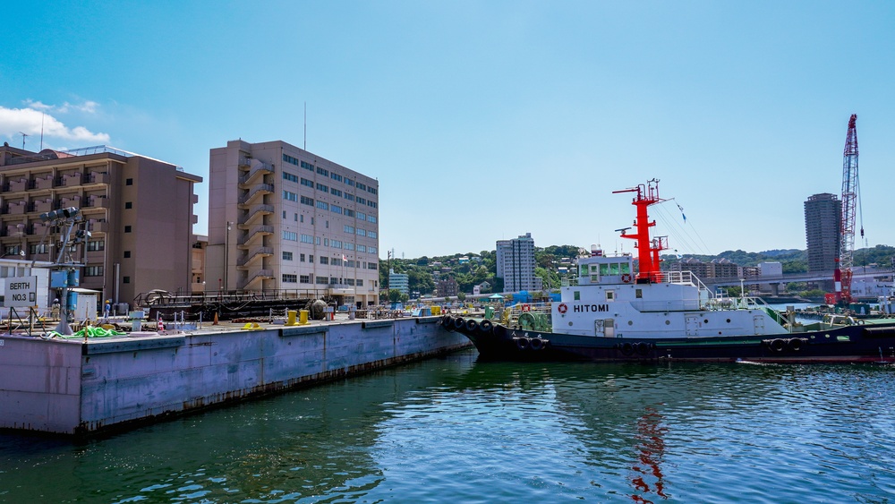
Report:
M805 249L857 114L856 246L895 244L895 3L15 2L0 141L110 145L202 176L282 140L379 181L379 251L631 252L659 179L678 253ZM14 20L14 21L12 21ZM305 126L305 109L307 122ZM686 220L684 216L686 215Z

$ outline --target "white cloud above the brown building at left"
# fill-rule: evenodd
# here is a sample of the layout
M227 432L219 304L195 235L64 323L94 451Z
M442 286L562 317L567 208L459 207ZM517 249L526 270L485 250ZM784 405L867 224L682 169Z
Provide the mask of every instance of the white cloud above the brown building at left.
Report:
M108 133L91 132L84 126L67 127L47 111L64 113L69 107L78 107L79 110L92 113L96 110L97 103L88 101L80 106L72 106L68 103L62 107L48 106L40 102L30 102L27 108L0 107L0 136L13 139L21 137L20 133L32 135L38 138L43 130L44 139L72 141L75 143L108 143ZM32 144L33 145L33 144ZM29 145L26 142L26 149Z

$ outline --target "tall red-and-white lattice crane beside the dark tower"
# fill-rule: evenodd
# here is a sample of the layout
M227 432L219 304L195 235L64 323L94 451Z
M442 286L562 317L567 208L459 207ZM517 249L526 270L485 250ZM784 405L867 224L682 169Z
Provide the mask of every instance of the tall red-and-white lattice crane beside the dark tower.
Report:
M842 153L842 219L840 221L840 257L833 271L836 292L826 295L827 304L851 303L852 266L855 256L855 214L857 213L857 114L848 119L848 133ZM861 226L864 237L864 226Z

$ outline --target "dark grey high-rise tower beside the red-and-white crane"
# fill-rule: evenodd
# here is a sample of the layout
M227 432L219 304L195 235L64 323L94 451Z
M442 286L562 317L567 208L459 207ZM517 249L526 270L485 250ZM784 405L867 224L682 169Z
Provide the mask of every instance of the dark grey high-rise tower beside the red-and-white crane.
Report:
M835 194L814 194L805 201L805 241L808 271L836 269L840 256L842 201Z

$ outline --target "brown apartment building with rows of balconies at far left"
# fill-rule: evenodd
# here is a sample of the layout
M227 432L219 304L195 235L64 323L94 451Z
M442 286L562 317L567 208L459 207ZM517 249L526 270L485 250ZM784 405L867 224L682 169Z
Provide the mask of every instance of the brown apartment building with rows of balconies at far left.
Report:
M193 189L182 167L107 146L31 152L0 147L0 249L55 261L59 229L40 214L75 207L90 238L72 252L81 287L133 305L152 289L191 290Z

